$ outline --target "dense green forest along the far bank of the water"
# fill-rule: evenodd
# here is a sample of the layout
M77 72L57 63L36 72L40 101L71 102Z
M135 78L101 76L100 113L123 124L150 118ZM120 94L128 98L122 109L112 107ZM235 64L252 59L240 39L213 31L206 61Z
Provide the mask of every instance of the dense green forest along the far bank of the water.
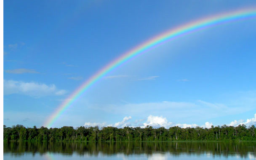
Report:
M239 126L211 126L211 128L180 128L173 126L153 128L147 126L116 128L112 126L99 129L95 127L72 126L61 128L26 128L22 125L6 127L4 125L4 141L184 141L184 140L256 140L256 127Z

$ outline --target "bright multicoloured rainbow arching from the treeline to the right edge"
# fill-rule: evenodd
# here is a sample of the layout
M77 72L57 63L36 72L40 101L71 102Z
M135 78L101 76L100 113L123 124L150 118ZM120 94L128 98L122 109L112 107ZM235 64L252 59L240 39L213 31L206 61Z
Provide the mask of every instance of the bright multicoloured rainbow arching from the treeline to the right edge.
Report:
M139 44L135 48L125 52L117 59L110 62L108 65L103 67L101 70L96 72L92 77L86 80L80 87L78 87L69 97L61 103L61 105L54 111L54 113L47 119L43 126L51 127L51 125L59 118L59 116L69 107L71 104L79 98L82 93L84 93L88 88L90 88L96 81L101 79L104 75L109 73L111 70L117 66L123 64L129 59L135 57L138 54L141 54L149 49L152 49L154 46L162 44L168 40L182 36L184 34L191 33L192 31L197 31L206 27L214 26L217 24L235 21L243 18L254 18L256 17L256 8L247 8L242 10L236 10L229 13L221 13L218 15L213 15L184 25L178 26L171 30L165 31L162 34L159 34L144 43Z

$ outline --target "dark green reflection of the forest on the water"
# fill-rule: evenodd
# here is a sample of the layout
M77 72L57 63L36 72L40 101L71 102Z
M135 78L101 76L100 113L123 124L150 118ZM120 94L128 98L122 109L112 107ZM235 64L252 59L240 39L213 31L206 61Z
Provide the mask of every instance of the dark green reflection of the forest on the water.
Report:
M248 153L256 157L256 142L4 142L4 153L23 155L25 152L45 154L46 152L72 155L124 155L146 154L156 152L179 156L211 154L212 156L239 155L247 157Z

